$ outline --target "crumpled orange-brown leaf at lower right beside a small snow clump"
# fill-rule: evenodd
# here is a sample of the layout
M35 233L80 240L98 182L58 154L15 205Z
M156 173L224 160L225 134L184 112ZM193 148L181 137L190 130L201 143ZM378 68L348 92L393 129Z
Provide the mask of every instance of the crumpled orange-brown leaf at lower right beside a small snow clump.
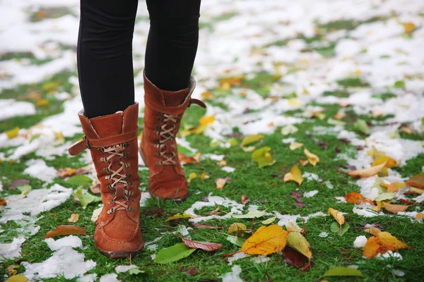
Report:
M370 259L378 254L384 254L389 250L396 251L407 247L408 245L402 243L389 232L380 232L377 236L368 238L367 243L365 243L363 255Z

